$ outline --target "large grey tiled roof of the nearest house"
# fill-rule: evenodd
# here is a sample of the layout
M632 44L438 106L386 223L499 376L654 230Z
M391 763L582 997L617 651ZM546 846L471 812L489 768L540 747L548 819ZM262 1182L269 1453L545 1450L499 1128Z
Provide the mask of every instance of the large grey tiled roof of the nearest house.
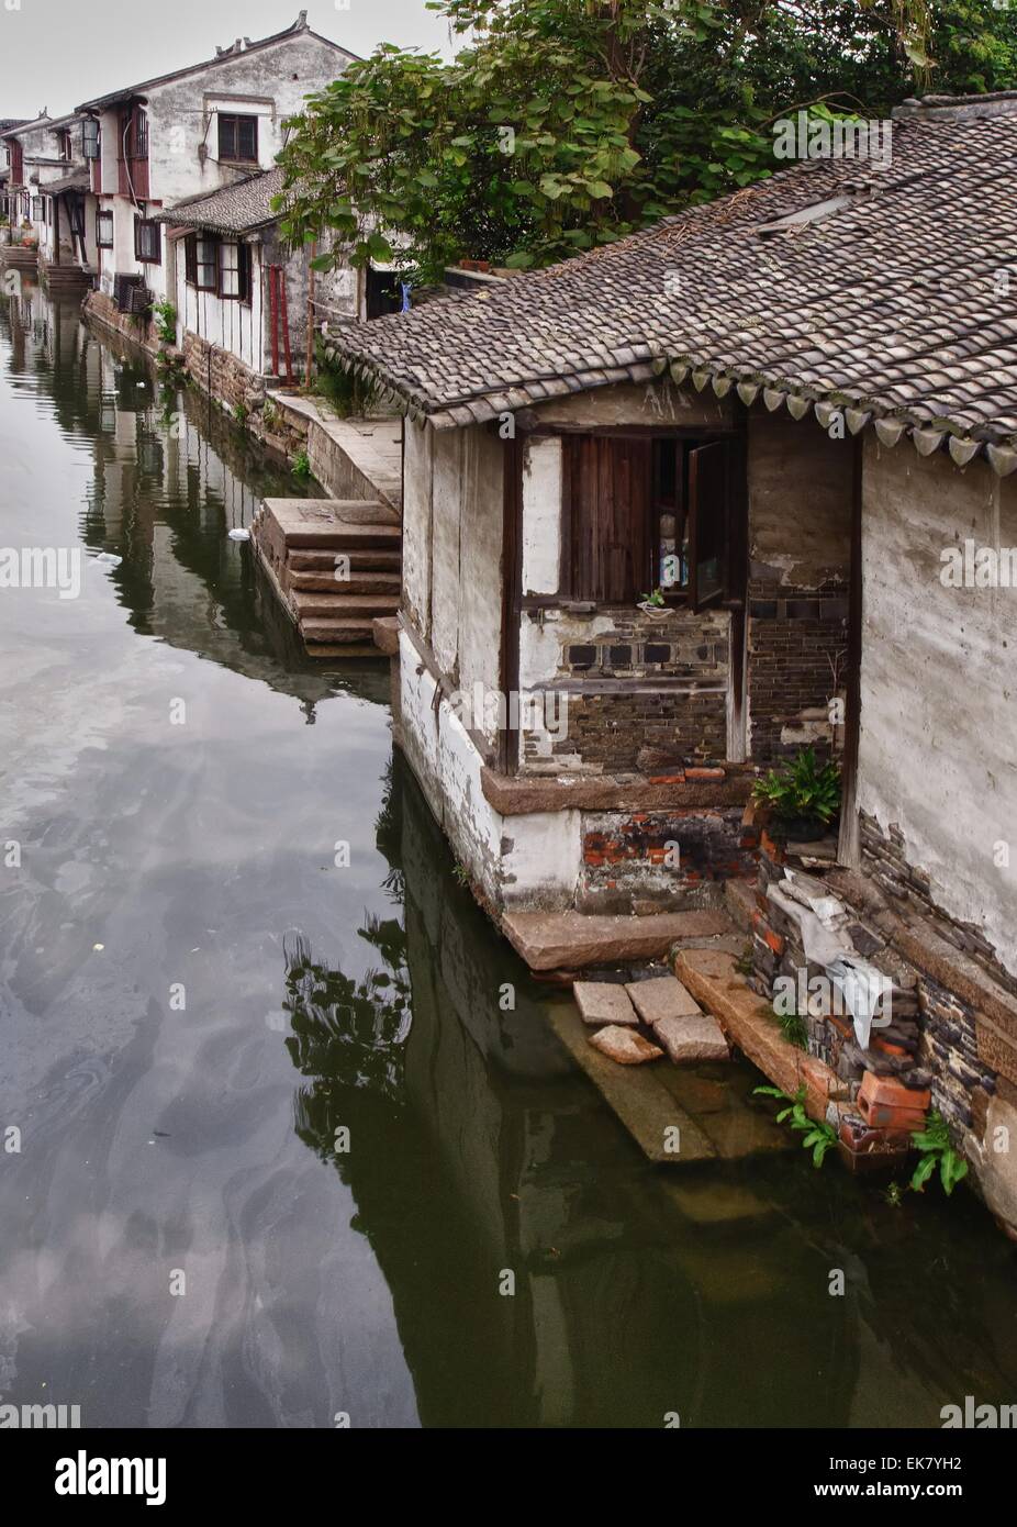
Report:
M1017 467L1017 99L909 104L887 168L809 160L333 344L435 425L664 371ZM815 221L762 224L832 202ZM991 443L991 444L988 444ZM1011 460L1012 458L1012 460Z

